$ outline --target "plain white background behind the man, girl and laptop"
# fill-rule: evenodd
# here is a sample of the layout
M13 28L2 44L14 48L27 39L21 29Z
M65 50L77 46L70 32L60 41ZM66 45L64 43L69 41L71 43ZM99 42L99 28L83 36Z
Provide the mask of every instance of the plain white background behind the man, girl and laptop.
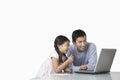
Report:
M98 55L103 47L117 48L111 71L120 71L119 26L119 0L1 0L0 80L35 77L55 37L71 40L75 29L87 33Z

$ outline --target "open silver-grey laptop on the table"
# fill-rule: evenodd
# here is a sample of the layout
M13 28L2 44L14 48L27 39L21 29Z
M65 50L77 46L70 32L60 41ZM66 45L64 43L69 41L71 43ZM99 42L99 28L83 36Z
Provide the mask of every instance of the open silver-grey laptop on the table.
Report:
M110 72L115 53L116 53L116 49L102 48L99 59L96 63L94 70L80 70L75 72L76 73L92 73L92 74Z

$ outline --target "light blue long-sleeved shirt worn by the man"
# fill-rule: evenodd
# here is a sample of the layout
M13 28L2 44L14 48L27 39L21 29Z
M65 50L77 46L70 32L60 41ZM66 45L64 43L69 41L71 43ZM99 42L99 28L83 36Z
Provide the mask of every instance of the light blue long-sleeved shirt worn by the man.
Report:
M97 62L96 46L93 43L87 43L87 47L83 52L79 52L75 45L71 45L67 52L67 57L74 56L73 71L79 70L81 65L87 65L88 70L94 70Z

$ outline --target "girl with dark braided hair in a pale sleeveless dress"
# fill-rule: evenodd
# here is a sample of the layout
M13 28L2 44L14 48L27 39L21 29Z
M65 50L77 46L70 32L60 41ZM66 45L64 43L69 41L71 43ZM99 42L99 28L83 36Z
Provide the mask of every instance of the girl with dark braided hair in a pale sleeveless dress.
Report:
M73 62L73 56L71 55L67 58L65 55L69 49L69 44L70 40L67 37L63 35L56 37L54 41L55 50L41 66L37 77L42 77L52 73L72 72L72 69L67 66Z

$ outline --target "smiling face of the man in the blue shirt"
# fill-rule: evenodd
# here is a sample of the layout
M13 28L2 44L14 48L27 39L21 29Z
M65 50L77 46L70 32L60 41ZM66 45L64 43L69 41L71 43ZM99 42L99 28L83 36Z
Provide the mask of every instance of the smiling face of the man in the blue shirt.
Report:
M76 41L73 42L73 44L76 45L78 51L84 51L86 49L86 44L87 44L86 36L78 37Z

